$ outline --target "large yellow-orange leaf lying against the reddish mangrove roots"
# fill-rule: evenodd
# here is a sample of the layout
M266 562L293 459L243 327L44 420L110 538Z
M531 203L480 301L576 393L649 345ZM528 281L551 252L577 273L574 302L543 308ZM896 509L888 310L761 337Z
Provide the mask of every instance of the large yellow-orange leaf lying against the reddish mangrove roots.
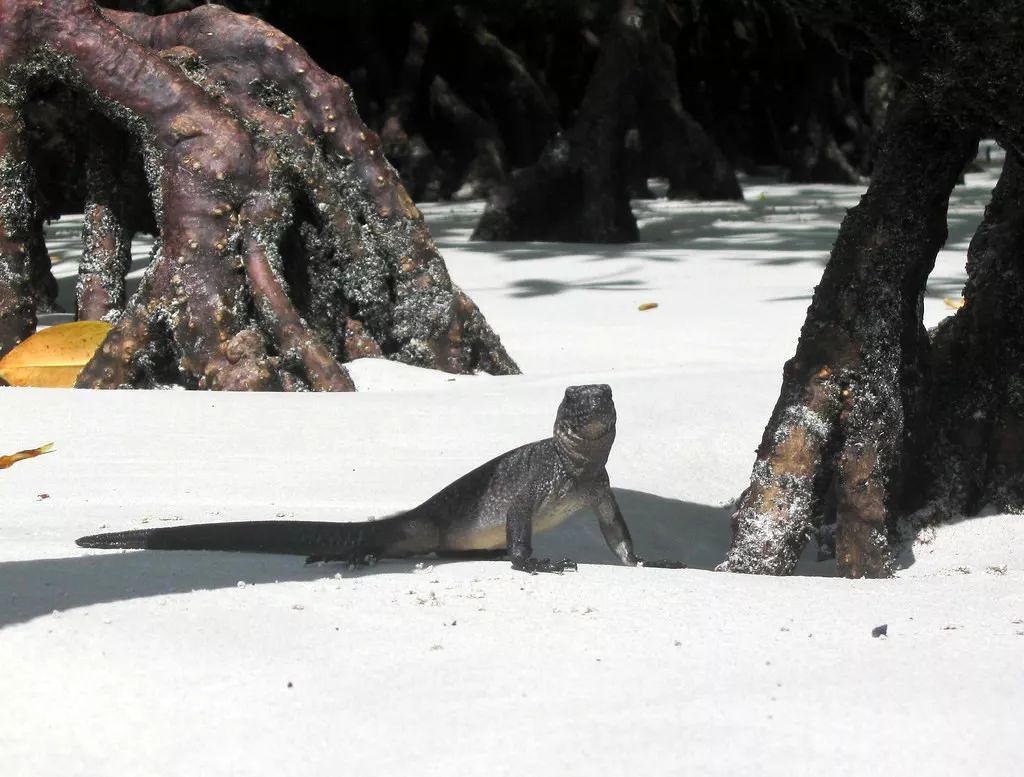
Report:
M71 388L111 325L72 321L37 332L0 359L0 378L11 386Z

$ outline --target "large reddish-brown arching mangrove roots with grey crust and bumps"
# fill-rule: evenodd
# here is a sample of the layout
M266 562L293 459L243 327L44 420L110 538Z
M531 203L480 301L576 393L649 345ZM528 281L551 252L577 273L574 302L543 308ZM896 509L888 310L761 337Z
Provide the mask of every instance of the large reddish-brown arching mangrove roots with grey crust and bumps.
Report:
M342 362L378 354L516 372L347 85L294 41L218 6L151 17L85 0L0 0L0 349L34 325L20 110L46 75L141 144L160 229L118 314L133 225L97 148L80 305L116 322L80 386L345 390Z

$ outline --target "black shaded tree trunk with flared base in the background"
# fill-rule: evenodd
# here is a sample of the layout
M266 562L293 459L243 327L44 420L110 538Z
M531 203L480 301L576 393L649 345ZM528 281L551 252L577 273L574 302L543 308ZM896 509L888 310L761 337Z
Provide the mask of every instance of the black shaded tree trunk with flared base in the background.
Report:
M662 12L662 0L624 0L572 128L495 191L474 239L637 240L629 195L638 186L628 170L635 149L627 136L634 127L648 169L670 177L671 196L742 198L728 162L682 107Z

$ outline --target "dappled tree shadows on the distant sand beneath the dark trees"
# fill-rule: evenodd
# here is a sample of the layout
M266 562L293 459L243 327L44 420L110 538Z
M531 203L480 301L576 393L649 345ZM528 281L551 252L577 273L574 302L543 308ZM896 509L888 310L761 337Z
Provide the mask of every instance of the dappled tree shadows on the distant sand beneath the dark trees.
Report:
M950 199L947 214L946 248L965 251L980 223L994 178L991 174L969 175ZM780 184L769 179L744 180L748 199L743 202L688 202L666 199L635 200L632 203L641 242L632 244L567 244L540 242L482 242L470 235L482 202L425 203L422 210L434 241L441 250L498 255L508 262L540 262L565 255L588 262L635 259L647 262L701 262L726 260L784 266L810 262L820 266L828 260L833 244L847 210L855 205L863 187ZM62 217L46 227L47 250L61 257L54 265L57 302L65 310L75 309L78 258L82 253L82 216ZM136 235L132 244L132 264L128 293L133 294L150 264L153 239ZM958 297L965 276L929 280L929 297ZM551 296L575 289L601 291L642 291L636 279L522 278L508 290L512 297ZM769 301L810 300L779 297ZM49 315L44 323L70 320L71 315Z

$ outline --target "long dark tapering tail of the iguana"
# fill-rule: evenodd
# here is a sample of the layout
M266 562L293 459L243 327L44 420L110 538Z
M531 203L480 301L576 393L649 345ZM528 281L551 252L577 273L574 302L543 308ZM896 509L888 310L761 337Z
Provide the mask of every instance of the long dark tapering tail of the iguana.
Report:
M75 542L82 548L146 548L163 551L237 551L283 553L324 559L357 560L428 553L410 547L409 521L402 516L378 521L242 521L160 526L152 529L91 534Z

